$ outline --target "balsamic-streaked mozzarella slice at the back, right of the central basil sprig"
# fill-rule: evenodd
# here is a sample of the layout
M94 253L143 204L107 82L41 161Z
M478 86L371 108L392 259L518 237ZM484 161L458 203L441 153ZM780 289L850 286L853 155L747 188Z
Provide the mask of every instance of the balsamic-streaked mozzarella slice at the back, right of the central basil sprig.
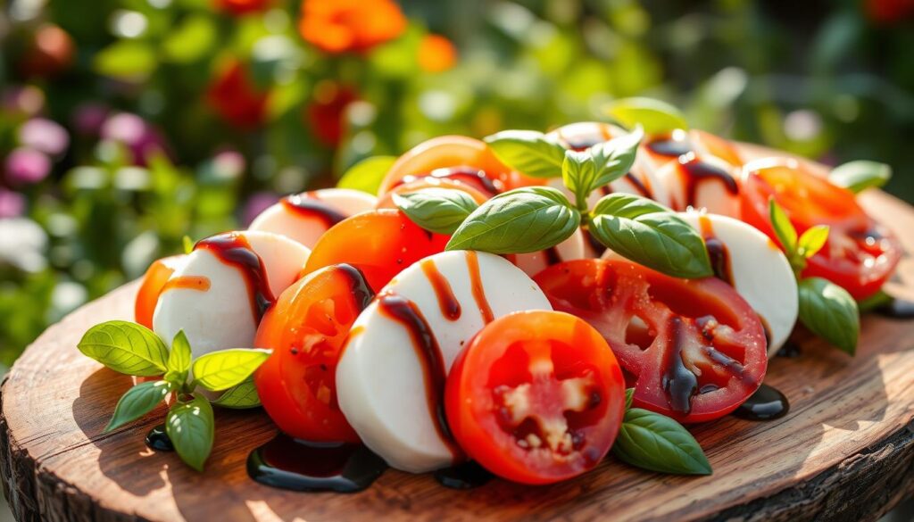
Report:
M739 176L717 156L679 156L657 170L675 210L705 208L709 213L739 218Z

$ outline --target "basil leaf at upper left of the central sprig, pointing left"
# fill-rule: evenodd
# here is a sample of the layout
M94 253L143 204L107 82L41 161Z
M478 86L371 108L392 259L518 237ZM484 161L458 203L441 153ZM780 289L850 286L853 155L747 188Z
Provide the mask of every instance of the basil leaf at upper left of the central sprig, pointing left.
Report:
M484 138L495 157L512 169L533 177L558 177L565 147L544 133L502 131Z

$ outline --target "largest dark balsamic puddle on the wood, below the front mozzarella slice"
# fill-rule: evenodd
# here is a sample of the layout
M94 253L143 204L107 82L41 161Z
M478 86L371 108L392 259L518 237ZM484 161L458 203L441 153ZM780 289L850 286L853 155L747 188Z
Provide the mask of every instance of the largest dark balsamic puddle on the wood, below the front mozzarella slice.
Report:
M292 491L355 493L388 468L362 444L303 442L279 433L248 455L248 475L263 485Z

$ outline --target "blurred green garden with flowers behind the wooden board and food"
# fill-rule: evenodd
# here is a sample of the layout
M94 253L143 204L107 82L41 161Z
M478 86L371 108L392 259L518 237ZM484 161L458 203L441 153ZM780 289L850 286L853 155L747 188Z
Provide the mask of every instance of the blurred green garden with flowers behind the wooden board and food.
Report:
M914 0L0 0L0 363L155 258L443 133L672 101L894 167ZM2 369L2 368L0 368Z

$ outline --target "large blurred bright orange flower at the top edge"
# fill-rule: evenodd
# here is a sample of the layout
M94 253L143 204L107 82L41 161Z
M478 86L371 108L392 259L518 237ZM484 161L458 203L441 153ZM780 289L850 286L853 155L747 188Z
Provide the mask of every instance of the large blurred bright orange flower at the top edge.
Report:
M298 30L315 47L339 54L399 37L406 24L392 0L303 0Z

